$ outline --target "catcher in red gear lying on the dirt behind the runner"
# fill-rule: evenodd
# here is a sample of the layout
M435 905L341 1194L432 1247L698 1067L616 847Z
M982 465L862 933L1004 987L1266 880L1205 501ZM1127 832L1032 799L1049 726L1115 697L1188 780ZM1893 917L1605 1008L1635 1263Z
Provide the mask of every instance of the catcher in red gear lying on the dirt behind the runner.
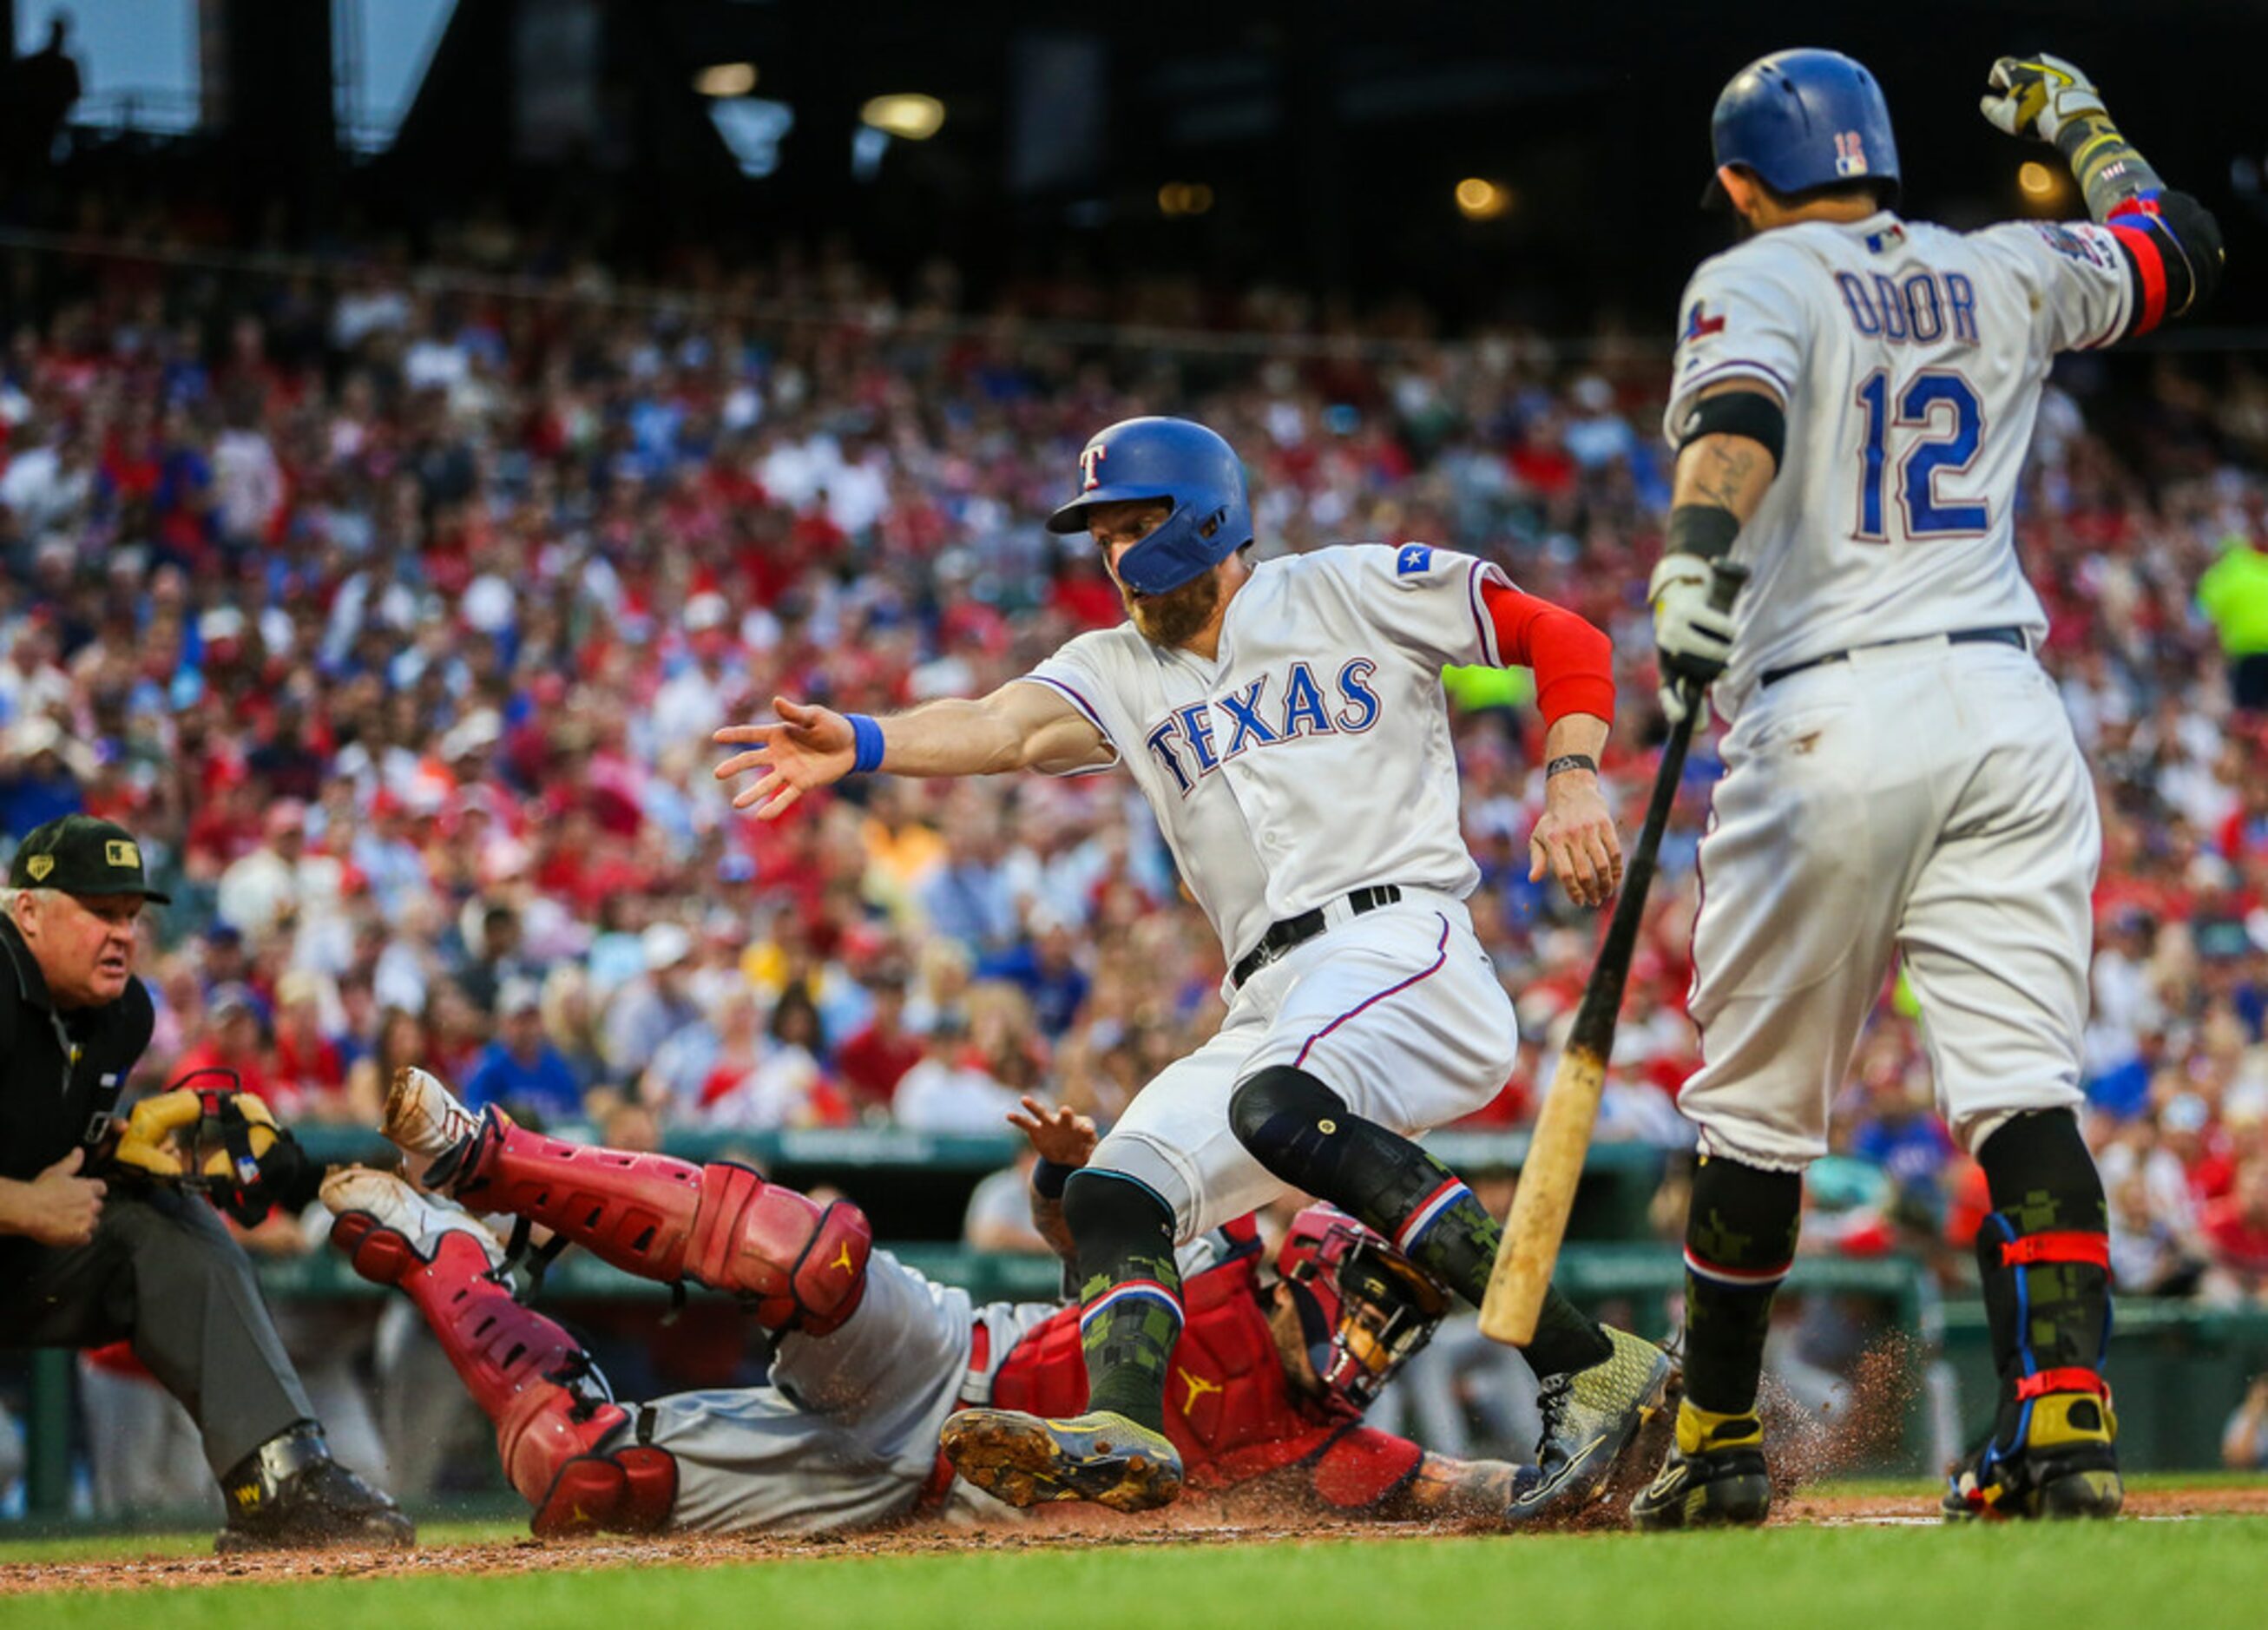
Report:
M1034 1109L1018 1124L1059 1165L1077 1165L1095 1140L1068 1111ZM1005 1514L953 1478L937 1444L946 1417L975 1403L1084 1408L1080 1308L978 1308L875 1251L866 1217L846 1202L819 1206L739 1165L544 1138L497 1109L474 1115L424 1070L397 1072L386 1134L463 1208L347 1168L322 1188L338 1213L331 1240L358 1274L399 1285L424 1313L497 1424L538 1535L810 1533L955 1508ZM617 1403L576 1342L513 1299L497 1272L503 1254L469 1211L524 1217L644 1279L737 1294L776 1333L771 1385ZM1043 1229L1059 1222L1052 1211L1034 1202ZM1377 1517L1510 1521L1517 1494L1551 1483L1551 1467L1445 1460L1361 1424L1447 1306L1379 1236L1311 1206L1272 1272L1261 1256L1250 1217L1184 1249L1188 1324L1173 1353L1168 1433L1195 1487L1266 1487ZM1563 1478L1551 1514L1572 1519L1635 1476L1649 1449L1640 1437L1651 1435L1628 1424L1613 1465ZM1012 1494L1077 1489L1039 1483Z

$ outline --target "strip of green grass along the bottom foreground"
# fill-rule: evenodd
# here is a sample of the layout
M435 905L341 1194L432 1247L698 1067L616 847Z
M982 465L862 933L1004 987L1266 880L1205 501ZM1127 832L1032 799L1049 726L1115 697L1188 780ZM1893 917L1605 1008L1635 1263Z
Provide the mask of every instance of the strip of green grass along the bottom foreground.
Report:
M2268 1523L1771 1528L1737 1535L1048 1546L699 1571L306 1580L0 1601L0 1623L243 1630L562 1625L1966 1625L2261 1623Z

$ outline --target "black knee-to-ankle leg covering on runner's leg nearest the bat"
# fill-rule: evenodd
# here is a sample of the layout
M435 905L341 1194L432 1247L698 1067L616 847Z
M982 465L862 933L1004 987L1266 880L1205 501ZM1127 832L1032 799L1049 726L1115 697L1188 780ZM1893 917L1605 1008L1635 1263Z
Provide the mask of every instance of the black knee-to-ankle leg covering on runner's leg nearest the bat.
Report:
M1270 1066L1229 1095L1229 1129L1293 1188L1327 1199L1472 1306L1488 1294L1501 1229L1447 1165L1397 1131L1347 1109L1306 1070ZM1556 1288L1535 1340L1520 1349L1538 1376L1603 1362L1615 1349L1597 1319Z

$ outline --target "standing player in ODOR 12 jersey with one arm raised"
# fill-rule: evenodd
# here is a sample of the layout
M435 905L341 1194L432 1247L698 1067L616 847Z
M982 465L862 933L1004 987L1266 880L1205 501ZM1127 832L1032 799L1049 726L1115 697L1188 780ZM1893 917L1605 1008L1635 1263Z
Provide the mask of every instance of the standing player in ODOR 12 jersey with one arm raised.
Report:
M2123 1499L2102 1183L2073 1113L2100 841L2012 521L2055 354L2195 311L2220 234L2071 63L2003 57L1984 116L2053 143L2093 222L1901 220L1889 111L1835 52L1765 57L1717 100L1712 195L1753 236L1685 290L1651 598L1667 703L1715 680L1733 728L1694 925L1708 1063L1678 1100L1703 1152L1685 1401L1640 1528L1765 1519L1765 1324L1892 954L1996 1206L1978 1260L1998 1417L1946 1512ZM1726 553L1751 569L1733 614L1706 601Z

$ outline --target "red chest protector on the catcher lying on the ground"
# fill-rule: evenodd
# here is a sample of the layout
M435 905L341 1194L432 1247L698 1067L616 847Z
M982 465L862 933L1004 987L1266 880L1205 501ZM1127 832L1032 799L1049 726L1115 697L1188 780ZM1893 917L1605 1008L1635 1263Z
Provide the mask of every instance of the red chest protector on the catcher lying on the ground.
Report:
M1417 1469L1422 1451L1290 1394L1261 1304L1259 1236L1250 1220L1222 1233L1229 1258L1182 1283L1182 1340L1166 1374L1166 1435L1182 1451L1188 1485L1227 1489L1313 1462L1327 1503L1383 1499ZM1048 1417L1086 1408L1080 1308L1064 1308L1016 1342L993 1376L991 1401Z

